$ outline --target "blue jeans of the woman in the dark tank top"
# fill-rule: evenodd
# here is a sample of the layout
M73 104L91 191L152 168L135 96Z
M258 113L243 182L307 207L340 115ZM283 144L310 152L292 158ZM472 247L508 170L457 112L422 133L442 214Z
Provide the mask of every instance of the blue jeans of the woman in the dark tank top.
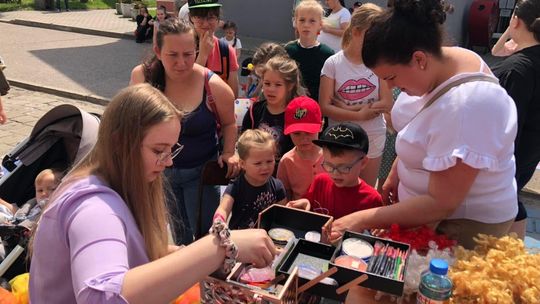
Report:
M169 199L169 212L174 221L173 231L177 244L190 244L193 242L193 235L197 231L199 182L203 166L190 169L171 167L165 170L165 176L174 195L172 200ZM218 205L219 187L205 186L201 206L201 232L203 235L207 234L212 226L212 218Z

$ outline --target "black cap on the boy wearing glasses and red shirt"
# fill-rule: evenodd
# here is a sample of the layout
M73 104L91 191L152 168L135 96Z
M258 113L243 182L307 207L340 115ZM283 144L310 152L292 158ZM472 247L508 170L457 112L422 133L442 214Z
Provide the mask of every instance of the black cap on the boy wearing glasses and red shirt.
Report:
M333 146L360 150L366 154L369 150L369 139L366 131L359 125L350 122L326 128L321 137L314 140L313 143L321 147Z

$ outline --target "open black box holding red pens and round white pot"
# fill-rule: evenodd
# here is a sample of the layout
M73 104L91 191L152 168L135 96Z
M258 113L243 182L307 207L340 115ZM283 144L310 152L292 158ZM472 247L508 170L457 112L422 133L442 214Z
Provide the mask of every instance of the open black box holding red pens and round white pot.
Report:
M403 294L403 286L405 284L405 282L403 280L394 280L394 279L390 279L390 278L380 276L380 275L377 275L377 274L373 274L373 273L370 273L370 272L357 271L357 270L354 270L354 269L350 269L350 268L346 268L346 267L342 267L342 266L338 266L338 265L334 264L335 259L338 256L342 255L341 246L342 246L343 241L348 239L348 238L351 238L351 237L359 238L359 239L362 239L364 241L367 241L372 246L375 245L376 241L380 241L381 243L389 244L389 246L392 246L392 247L394 247L396 249L401 249L401 250L404 250L404 251L407 251L407 252L410 251L410 245L409 244L394 242L394 241L389 240L389 239L382 239L382 238L374 237L374 236L371 236L371 235L346 231L345 234L343 235L342 240L339 242L339 244L338 244L338 246L336 248L336 251L334 253L334 256L332 257L332 260L331 260L331 264L338 268L337 273L334 274L332 277L338 282L339 285L343 285L343 284L346 284L346 283L350 282L351 280L354 280L358 276L366 274L367 275L367 280L360 283L359 284L360 286L375 289L375 290L380 290L380 291L383 291L383 292L386 292L386 293L391 293L391 294L394 294L396 296L401 296ZM405 266L404 266L403 271L406 271L405 270L406 266L407 266L407 260L405 260ZM405 277L405 275L406 275L406 273L404 273L404 277Z

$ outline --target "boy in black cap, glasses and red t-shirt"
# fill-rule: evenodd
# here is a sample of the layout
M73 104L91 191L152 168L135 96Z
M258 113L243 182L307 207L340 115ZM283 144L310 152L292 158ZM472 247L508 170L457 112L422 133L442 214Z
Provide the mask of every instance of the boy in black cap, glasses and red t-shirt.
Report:
M369 140L357 124L328 127L313 143L323 148L322 168L303 199L289 206L328 214L339 219L356 211L382 206L381 195L358 176L366 166Z

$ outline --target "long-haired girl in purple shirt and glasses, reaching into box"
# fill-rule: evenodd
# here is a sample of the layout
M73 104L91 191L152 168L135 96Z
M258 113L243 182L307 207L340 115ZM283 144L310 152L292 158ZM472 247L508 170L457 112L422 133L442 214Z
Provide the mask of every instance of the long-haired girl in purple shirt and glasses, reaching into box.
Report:
M162 172L182 149L181 117L149 84L113 98L96 145L38 223L31 303L169 303L222 264L271 263L275 249L262 230L168 245Z

